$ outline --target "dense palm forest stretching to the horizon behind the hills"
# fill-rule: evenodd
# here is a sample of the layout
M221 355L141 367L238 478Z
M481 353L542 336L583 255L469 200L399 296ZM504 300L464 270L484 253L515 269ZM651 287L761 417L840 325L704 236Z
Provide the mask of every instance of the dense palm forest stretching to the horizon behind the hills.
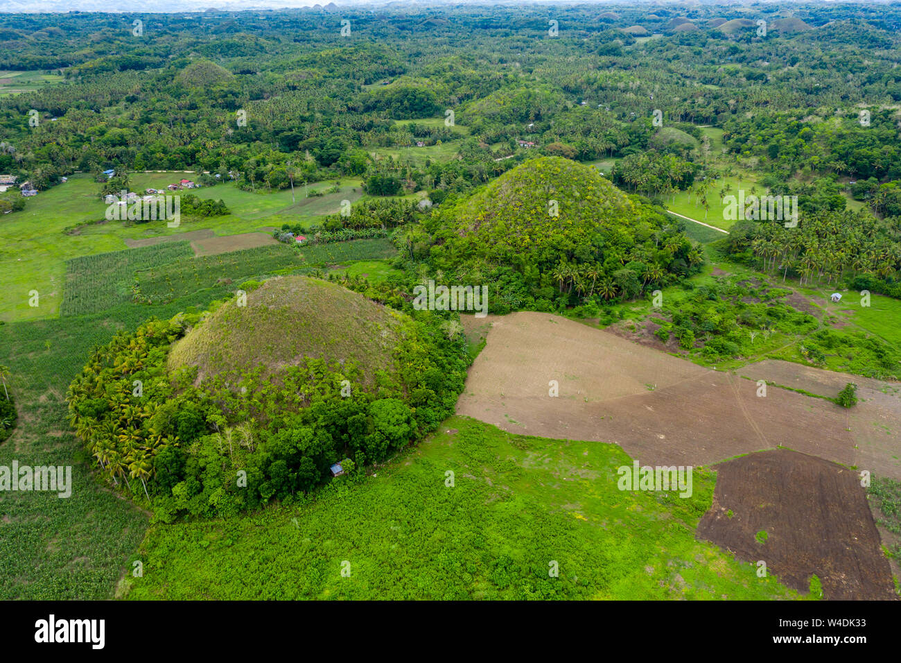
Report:
M714 9L692 11L703 20ZM887 30L896 10L856 32L825 24L833 20L826 15L860 20L850 10L805 12L823 27L760 40L753 30L679 34L666 9L658 21L621 7L610 21L566 7L553 49L542 46L546 15L531 8L436 8L428 20L390 9L350 13L350 38L336 16L314 10L242 13L240 21L204 14L190 23L154 14L140 39L103 14L5 15L0 37L19 60L9 69L49 57L50 41L53 57L75 66L66 84L0 99L0 127L15 150L0 160L5 171L48 185L72 170L122 165L235 173L253 190L359 177L374 195L454 193L503 172L523 152L521 140L583 161L649 147L693 161L687 143L660 142L649 124L659 111L667 128L723 125L733 152L765 155L780 173L810 159L814 170L901 179L888 111L873 111L869 134L824 120L808 135L804 121L821 109L847 113L863 101L875 108L901 98L889 55L898 40ZM639 44L621 32L628 21L667 36ZM821 49L814 59L811 40ZM38 126L28 124L32 109ZM456 125L395 122L448 110ZM451 141L455 158L435 168L414 157L372 157L416 141Z

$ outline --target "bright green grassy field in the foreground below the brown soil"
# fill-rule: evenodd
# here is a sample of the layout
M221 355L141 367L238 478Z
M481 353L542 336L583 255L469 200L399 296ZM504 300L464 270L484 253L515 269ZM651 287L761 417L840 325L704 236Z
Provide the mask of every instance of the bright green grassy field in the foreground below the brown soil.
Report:
M454 417L375 475L334 482L304 506L154 525L127 597L796 597L695 538L713 474L696 472L688 499L621 492L616 468L630 463L613 445Z

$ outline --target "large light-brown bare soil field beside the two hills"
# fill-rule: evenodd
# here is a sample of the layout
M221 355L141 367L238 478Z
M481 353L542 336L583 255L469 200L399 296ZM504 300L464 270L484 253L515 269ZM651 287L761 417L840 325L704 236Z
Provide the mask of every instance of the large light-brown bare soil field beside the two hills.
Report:
M642 464L709 465L787 447L901 479L893 441L877 429L864 444L862 429L876 427L852 426L852 410L832 402L776 387L760 397L754 381L550 314L486 321L459 414L524 435L617 444Z

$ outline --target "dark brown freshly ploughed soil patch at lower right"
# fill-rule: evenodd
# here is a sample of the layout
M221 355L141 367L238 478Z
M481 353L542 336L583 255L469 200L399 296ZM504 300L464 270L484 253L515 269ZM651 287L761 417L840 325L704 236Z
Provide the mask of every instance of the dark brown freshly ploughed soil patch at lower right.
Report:
M856 472L780 449L727 461L716 473L699 538L745 561L763 560L799 591L815 574L826 599L897 599Z

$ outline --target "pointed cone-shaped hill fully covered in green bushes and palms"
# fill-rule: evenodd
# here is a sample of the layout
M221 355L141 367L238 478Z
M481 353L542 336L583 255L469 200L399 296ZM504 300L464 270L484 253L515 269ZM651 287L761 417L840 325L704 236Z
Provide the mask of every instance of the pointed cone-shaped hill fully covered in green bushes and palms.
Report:
M428 261L453 282L487 283L493 312L562 309L634 299L696 271L701 255L679 227L595 169L543 157L432 215Z

